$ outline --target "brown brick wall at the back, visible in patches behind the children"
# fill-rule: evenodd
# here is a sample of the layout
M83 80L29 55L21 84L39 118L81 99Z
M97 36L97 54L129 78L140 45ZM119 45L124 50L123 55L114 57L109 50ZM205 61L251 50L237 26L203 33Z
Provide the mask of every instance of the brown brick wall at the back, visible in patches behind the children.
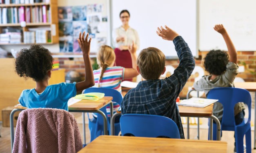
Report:
M201 66L203 68L203 58L207 54L206 51L199 52L199 58L195 59L196 65ZM76 70L81 74L82 77L85 77L85 66L82 58L56 58L56 60L60 61L60 68L65 68L65 72L70 70ZM93 64L95 59L91 59L91 63ZM166 65L171 65L174 68L178 66L179 60L172 59L167 60ZM237 77L243 78L245 81L256 81L256 51L252 52L238 52L238 65L245 66L245 72L240 73ZM207 74L207 72L205 72ZM180 93L181 98L185 98L188 92L188 87L192 86L194 83L194 78L197 77L195 75L191 75L189 80L187 81L185 87Z

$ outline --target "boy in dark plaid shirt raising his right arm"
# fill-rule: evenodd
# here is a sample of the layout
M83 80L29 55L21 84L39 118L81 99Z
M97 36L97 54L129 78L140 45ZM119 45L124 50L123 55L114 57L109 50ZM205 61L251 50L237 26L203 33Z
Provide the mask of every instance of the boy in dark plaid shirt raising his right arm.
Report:
M136 67L142 78L136 88L127 92L123 98L122 114L153 114L171 118L176 122L180 138L184 138L176 99L195 67L193 55L183 37L165 26L156 33L165 40L174 42L180 64L170 77L160 80L165 72L165 55L158 48L141 50Z

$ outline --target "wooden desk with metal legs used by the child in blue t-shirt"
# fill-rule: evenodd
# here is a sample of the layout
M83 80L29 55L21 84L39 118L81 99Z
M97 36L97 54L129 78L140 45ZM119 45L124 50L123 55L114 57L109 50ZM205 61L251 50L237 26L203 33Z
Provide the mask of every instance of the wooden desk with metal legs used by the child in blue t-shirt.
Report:
M69 112L89 112L89 113L99 113L103 117L104 121L104 134L107 134L107 116L100 111L102 107L104 107L107 104L110 104L110 118L113 116L113 103L112 103L113 97L105 96L101 98L98 101L90 101L82 99L81 101L78 101L77 103L74 103L73 105L69 106ZM15 109L11 111L10 114L10 131L11 131L11 149L13 147L13 141L14 141L14 128L13 128L13 115L16 111L22 111L24 109L27 109L27 107L23 107L21 105L15 105ZM83 115L83 132L84 132L84 144L86 144L85 141L85 116Z

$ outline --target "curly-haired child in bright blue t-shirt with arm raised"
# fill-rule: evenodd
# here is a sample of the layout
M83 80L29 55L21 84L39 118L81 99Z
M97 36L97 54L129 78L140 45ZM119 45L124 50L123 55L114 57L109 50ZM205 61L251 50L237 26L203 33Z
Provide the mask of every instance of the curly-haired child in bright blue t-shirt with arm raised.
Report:
M36 88L23 90L19 102L27 108L58 108L68 110L67 101L82 91L94 85L93 72L90 62L90 44L88 33L79 34L78 44L82 50L85 62L85 81L74 83L59 83L48 85L51 77L53 57L48 49L34 44L29 49L22 49L15 61L16 72L20 77L30 77L36 81Z

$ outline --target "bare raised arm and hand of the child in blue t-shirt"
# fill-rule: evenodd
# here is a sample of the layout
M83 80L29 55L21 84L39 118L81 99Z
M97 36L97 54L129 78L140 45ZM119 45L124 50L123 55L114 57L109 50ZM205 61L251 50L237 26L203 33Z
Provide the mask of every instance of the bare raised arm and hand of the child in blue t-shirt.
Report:
M88 40L89 33L87 33L85 37L85 32L79 34L79 39L77 39L78 44L82 50L82 56L85 62L85 81L81 81L76 83L76 91L82 91L88 87L94 85L94 77L93 71L91 67L91 59L90 59L90 46L91 46L91 38Z

